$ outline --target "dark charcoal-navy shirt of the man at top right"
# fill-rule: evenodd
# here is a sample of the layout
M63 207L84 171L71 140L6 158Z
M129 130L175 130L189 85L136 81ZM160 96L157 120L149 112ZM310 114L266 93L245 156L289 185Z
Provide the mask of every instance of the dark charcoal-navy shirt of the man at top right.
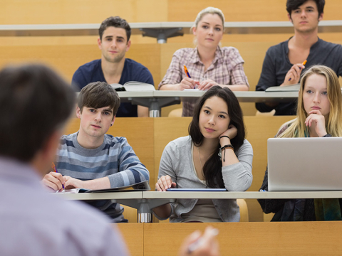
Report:
M318 41L310 48L303 71L310 68L311 65L318 64L326 65L335 71L337 76L342 76L342 46L318 38ZM268 87L281 85L292 65L289 60L289 40L271 46L266 52L256 90L264 91ZM260 112L270 112L275 109L275 115L294 115L296 114L297 100L281 102L275 108L260 102L256 103L256 107Z

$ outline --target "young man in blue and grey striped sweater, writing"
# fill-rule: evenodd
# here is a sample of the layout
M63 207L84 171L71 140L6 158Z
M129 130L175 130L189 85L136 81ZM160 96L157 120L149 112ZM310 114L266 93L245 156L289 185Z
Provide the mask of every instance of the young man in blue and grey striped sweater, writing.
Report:
M120 98L106 82L91 82L78 95L77 117L80 129L61 137L56 168L43 183L58 191L62 188L116 188L148 181L150 174L141 164L125 137L105 134L115 121ZM114 222L126 222L123 208L111 201L95 201Z

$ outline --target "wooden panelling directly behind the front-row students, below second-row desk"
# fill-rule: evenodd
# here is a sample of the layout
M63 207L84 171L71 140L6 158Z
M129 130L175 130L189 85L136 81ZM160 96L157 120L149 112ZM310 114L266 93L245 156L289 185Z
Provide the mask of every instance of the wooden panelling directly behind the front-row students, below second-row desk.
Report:
M259 191L267 165L267 139L274 137L281 124L293 117L244 117L247 139L254 149L253 183L249 191ZM123 136L133 146L142 164L150 171L150 186L155 189L160 157L166 144L187 136L190 117L117 118L108 134ZM71 119L65 134L77 132L79 120ZM263 221L263 213L256 200L247 199L249 221Z

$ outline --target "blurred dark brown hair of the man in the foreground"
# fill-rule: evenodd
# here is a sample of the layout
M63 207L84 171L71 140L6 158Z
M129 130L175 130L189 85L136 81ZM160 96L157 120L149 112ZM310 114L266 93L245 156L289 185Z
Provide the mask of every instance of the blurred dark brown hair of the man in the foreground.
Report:
M44 65L0 71L0 155L31 161L75 106L71 85Z

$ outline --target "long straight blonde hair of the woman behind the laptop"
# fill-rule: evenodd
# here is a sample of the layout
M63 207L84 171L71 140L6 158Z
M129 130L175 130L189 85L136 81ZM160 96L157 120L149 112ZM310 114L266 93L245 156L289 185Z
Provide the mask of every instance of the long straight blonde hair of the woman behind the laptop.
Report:
M324 65L313 65L301 78L301 87L298 95L297 118L284 125L289 127L281 134L280 138L306 137L307 128L305 119L308 117L304 109L303 92L306 79L310 75L323 75L326 78L327 94L330 103L330 112L326 120L326 132L333 137L342 137L342 93L336 73ZM284 127L283 125L283 127Z

